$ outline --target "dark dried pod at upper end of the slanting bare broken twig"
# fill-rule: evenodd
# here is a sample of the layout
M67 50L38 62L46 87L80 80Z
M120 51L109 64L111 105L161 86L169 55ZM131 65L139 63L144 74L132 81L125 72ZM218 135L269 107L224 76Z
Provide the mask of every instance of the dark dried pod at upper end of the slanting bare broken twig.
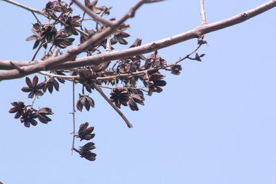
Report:
M79 72L79 83L83 84L88 92L92 92L91 89L94 90L95 83L98 84L96 79L97 75L92 73L89 69L81 70Z

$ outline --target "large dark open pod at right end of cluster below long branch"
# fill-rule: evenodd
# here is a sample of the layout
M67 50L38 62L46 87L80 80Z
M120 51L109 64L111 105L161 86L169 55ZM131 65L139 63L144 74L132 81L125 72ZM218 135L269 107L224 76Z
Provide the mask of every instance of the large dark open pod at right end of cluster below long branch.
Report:
M160 86L165 86L166 81L162 80L164 79L164 75L159 74L159 72L156 72L155 74L151 74L150 78L147 81L148 88L152 92L162 92L163 89L160 88Z

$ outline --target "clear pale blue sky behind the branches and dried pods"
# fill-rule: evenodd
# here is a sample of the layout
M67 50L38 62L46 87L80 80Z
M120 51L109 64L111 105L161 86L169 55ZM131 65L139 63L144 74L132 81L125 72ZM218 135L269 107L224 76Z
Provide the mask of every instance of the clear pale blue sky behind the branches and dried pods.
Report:
M19 2L41 10L47 1ZM111 17L120 17L135 2L99 0L99 5L113 6ZM232 17L265 2L206 0L207 22ZM32 14L0 1L0 16L0 58L30 60L33 42L25 39L32 34ZM77 126L86 121L95 126L95 162L70 154L70 83L36 101L40 108L52 108L52 121L26 128L8 113L12 101L30 103L27 94L21 92L25 79L1 81L0 181L275 184L275 17L273 9L206 34L208 45L199 50L199 54L206 54L203 62L184 61L180 76L165 72L164 92L146 96L146 105L140 106L139 112L121 108L132 129L97 92L90 94L95 109L77 112L76 119ZM199 0L144 5L127 23L131 25L127 31L132 34L127 39L130 44L137 38L149 43L170 37L199 25ZM196 46L195 39L159 50L159 54L170 63ZM76 146L83 144L77 141Z

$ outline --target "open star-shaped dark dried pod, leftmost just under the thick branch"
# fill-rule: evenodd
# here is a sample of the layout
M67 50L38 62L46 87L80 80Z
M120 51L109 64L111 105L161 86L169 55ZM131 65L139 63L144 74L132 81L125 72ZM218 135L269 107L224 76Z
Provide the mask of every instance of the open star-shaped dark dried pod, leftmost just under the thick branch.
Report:
M21 90L23 92L30 92L28 94L28 98L32 99L34 97L34 94L37 96L42 96L43 92L41 91L41 88L43 88L43 83L39 83L39 78L35 75L32 81L30 81L30 78L26 76L26 83L28 87L23 87Z

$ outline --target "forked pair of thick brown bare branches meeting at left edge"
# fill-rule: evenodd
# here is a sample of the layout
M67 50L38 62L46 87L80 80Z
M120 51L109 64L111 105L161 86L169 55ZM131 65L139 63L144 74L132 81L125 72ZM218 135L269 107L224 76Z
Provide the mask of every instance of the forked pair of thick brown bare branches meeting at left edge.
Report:
M128 13L126 13L123 17L121 17L121 19L116 21L116 25L118 25L118 23L124 22L129 17L132 17L135 10L137 10L137 8L139 8L142 5L142 3L143 1L139 1L137 4L135 4L135 6L130 8ZM161 48L166 48L170 45L175 45L177 43L187 41L189 39L198 38L202 34L207 34L209 32L214 32L217 30L230 27L232 25L236 25L238 23L242 23L252 17L255 17L258 14L262 14L263 12L270 10L271 8L275 8L275 6L276 6L275 0L268 1L267 3L264 3L261 6L248 10L247 12L242 12L240 14L237 14L234 17L217 21L215 23L200 25L199 27L193 30L189 30L188 32L183 32L181 34L177 34L175 36L168 37L166 39L161 39L159 41L154 41L146 45L141 45L141 46L138 46L135 48L129 48L126 50L104 52L90 57L79 58L79 59L76 59L76 61L68 60L69 56L72 57L72 55L70 55L68 52L66 52L65 54L59 57L55 57L54 59L48 59L44 62L38 62L37 64L29 65L29 66L26 66L26 62L12 61L17 66L25 65L25 66L22 66L22 69L26 71L23 74L20 73L18 70L14 69L14 66L10 65L9 60L0 60L0 70L14 69L10 71L0 72L0 80L17 79L22 76L26 76L27 74L32 74L34 72L39 72L41 70L46 70L46 69L76 68L76 67L81 67L85 65L98 65L99 63L103 63L106 61L113 61L116 59L126 59L128 57L137 56L139 54L146 54L155 50L159 50ZM95 35L95 37L92 37L91 39L89 39L88 41L79 45L76 48L72 48L70 51L72 51L72 53L75 53L73 54L73 56L80 53L81 51L85 50L85 48L88 48L92 43L96 43L104 36L111 34L114 28L113 29L107 28L105 32L102 32L102 34ZM41 63L46 63L46 64L41 64Z

